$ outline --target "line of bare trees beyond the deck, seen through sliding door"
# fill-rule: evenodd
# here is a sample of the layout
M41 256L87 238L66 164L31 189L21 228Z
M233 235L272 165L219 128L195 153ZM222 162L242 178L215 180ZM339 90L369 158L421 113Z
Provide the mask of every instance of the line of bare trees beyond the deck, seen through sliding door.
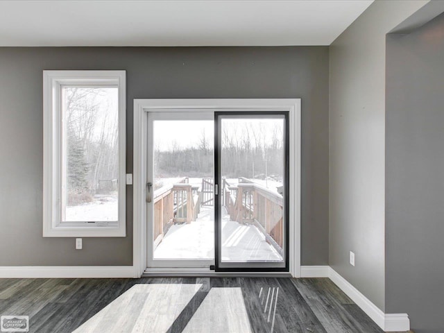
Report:
M271 135L264 135L264 131ZM225 178L266 177L282 180L283 144L282 130L274 128L250 128L222 133L221 173ZM214 176L214 143L202 133L198 144L180 147L176 144L168 149L155 149L155 173L158 178L208 177Z

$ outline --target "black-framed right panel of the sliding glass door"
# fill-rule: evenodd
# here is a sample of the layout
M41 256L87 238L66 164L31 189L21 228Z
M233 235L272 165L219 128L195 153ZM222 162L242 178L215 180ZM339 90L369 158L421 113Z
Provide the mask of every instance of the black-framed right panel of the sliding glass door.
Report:
M287 123L284 113L216 112L219 271L288 266Z

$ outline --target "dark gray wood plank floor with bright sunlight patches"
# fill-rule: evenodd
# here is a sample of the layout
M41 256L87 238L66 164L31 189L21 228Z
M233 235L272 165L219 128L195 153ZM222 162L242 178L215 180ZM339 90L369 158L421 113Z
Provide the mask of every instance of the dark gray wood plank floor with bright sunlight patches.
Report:
M39 333L382 332L326 278L0 279L0 315Z

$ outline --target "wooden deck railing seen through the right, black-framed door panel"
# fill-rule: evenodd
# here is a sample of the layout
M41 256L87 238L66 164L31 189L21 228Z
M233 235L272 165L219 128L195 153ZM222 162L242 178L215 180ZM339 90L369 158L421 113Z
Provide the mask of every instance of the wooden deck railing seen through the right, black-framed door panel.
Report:
M257 226L282 255L284 247L284 200L282 195L266 187L239 178L239 184L230 185L223 180L223 205L230 219L238 223Z

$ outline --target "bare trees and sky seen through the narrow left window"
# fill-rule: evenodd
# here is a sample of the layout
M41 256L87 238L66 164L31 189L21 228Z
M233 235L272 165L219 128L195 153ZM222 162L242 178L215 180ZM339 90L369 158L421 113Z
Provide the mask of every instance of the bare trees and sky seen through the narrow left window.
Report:
M66 145L68 153L71 152L67 165L67 176L71 179L68 191L73 196L84 193L83 200L92 200L101 179L110 182L108 190L112 190L113 183L117 184L113 179L119 169L118 112L110 108L105 89L64 89ZM81 167L83 164L86 166ZM77 185L72 181L75 179Z

